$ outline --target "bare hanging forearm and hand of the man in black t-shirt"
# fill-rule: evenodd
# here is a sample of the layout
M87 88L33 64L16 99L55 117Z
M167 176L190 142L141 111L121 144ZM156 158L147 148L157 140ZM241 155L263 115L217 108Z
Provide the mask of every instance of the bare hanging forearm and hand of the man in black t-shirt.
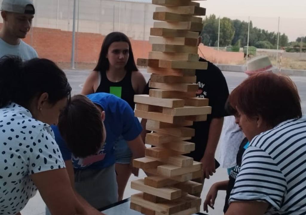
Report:
M201 159L204 177L207 179L216 172L215 152L222 131L223 119L223 117L213 118L209 126L207 145L204 156Z

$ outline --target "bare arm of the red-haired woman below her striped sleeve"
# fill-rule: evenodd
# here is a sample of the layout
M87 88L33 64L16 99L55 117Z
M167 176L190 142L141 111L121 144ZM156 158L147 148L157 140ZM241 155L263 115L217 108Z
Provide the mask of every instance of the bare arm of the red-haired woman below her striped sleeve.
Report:
M268 207L267 202L232 202L225 215L264 215Z

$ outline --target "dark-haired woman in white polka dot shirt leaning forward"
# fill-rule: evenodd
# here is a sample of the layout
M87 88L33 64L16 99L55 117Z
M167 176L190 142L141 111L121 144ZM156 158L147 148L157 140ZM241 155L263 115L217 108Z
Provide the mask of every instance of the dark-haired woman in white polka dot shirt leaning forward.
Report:
M52 61L0 59L0 215L20 215L37 188L53 215L99 213L76 200L50 128L70 92Z

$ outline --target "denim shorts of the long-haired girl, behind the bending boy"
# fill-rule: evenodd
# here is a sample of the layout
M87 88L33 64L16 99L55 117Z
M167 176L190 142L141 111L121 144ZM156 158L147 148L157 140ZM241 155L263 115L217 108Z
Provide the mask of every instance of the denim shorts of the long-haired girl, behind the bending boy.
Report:
M118 137L114 144L116 163L129 164L132 159L132 151L122 136Z

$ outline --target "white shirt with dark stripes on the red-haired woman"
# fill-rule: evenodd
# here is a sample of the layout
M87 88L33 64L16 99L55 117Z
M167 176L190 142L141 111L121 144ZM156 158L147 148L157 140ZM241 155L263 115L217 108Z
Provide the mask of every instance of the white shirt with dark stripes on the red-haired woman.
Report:
M229 202L263 201L265 214L306 214L306 116L253 138Z

